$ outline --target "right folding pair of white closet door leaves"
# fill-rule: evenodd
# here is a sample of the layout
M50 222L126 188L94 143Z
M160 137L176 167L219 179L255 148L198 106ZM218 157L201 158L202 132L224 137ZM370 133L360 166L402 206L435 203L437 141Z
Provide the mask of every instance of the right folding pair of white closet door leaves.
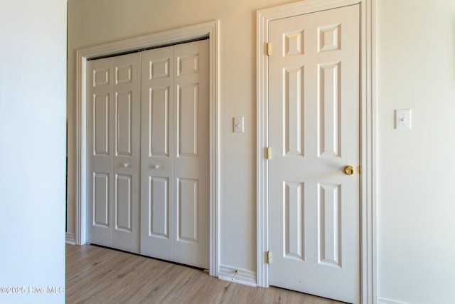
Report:
M208 41L143 51L141 73L141 254L208 268Z

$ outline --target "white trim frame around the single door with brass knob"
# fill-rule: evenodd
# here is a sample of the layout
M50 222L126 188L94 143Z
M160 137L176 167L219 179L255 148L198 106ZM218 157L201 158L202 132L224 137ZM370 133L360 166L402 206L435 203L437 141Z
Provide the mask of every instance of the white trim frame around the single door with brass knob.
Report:
M375 0L308 0L257 11L257 285L269 287L269 22L355 4L360 5L360 303L376 303Z

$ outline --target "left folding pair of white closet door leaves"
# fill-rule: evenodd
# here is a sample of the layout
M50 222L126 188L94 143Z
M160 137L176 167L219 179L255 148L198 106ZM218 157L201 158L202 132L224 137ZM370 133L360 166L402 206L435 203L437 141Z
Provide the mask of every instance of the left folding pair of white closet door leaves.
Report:
M87 63L87 241L139 253L140 55Z

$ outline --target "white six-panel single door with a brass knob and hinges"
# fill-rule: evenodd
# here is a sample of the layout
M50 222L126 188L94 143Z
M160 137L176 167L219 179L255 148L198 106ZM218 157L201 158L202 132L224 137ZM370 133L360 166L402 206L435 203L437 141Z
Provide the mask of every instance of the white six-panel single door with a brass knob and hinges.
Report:
M269 43L269 282L359 303L359 6L271 21Z

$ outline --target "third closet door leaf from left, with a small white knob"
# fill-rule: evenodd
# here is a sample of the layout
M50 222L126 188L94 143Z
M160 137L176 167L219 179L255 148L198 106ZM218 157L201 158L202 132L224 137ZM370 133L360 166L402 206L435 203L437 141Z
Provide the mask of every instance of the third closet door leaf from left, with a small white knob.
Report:
M141 52L141 254L173 256L173 47Z

